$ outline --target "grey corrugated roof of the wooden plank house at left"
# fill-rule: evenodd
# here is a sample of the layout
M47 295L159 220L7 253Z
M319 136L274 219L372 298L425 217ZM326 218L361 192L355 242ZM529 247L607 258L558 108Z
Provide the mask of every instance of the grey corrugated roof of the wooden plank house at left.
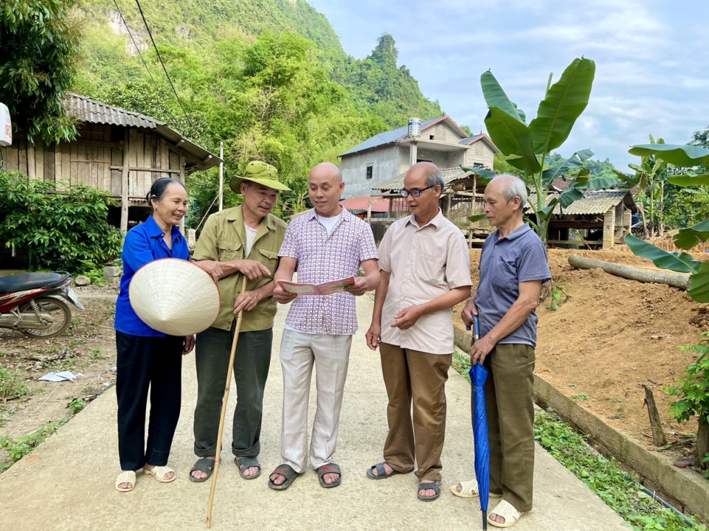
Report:
M86 96L79 96L79 94L74 94L73 92L65 94L64 105L70 116L74 116L74 118L84 123L103 123L106 125L123 125L124 127L155 130L162 138L171 142L177 149L185 152L187 156L185 169L187 172L195 169L208 169L218 166L221 162L219 157L191 142L191 140L177 133L177 131L169 128L166 123L155 118L113 107Z

